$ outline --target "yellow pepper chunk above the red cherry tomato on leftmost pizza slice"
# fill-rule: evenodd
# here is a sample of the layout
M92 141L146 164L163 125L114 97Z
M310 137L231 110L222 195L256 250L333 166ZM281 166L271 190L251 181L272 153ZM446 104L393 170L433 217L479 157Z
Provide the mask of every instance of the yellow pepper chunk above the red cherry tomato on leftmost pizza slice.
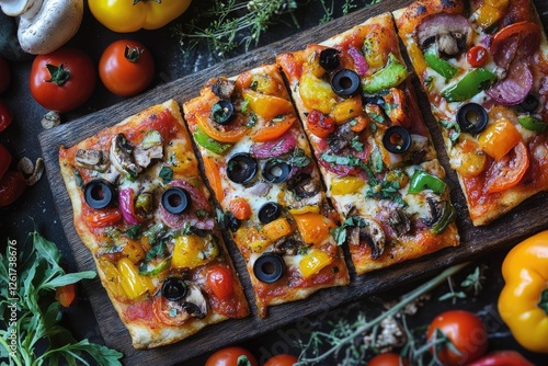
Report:
M219 254L219 247L213 237L179 236L173 245L171 266L175 268L195 268L213 261Z

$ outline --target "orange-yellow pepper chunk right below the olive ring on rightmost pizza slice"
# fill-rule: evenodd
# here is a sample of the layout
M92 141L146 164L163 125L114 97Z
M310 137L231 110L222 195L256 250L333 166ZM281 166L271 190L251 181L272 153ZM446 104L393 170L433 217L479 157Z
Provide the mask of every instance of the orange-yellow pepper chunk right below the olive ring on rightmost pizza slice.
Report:
M522 135L506 118L489 125L478 137L481 149L495 160L501 160L522 140Z

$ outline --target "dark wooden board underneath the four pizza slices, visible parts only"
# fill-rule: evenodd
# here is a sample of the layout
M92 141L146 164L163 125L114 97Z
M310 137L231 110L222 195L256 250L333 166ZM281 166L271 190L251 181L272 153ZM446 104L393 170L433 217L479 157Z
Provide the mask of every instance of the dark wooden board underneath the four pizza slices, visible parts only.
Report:
M203 83L212 77L233 76L261 64L273 62L275 55L281 52L300 49L309 43L323 41L364 22L373 15L399 9L410 2L410 0L385 0L380 4L356 11L330 23L296 34L290 39L277 42L214 66L205 71L159 85L145 94L42 133L38 139L46 164L47 178L78 268L80 271L95 270L91 254L81 243L72 225L71 204L58 165L58 150L61 145L72 146L81 139L94 135L100 129L167 99L173 98L182 103L196 96ZM544 0L535 0L535 3L546 28L546 24L548 24L548 3ZM452 264L475 260L496 251L505 251L525 237L548 229L546 209L548 193L546 192L527 199L520 207L489 226L477 228L471 225L457 178L448 168L447 156L443 150L442 136L430 114L429 102L422 91L418 90L416 92L421 110L425 111L424 117L429 127L431 127L438 156L447 171L452 198L458 210L457 224L461 237L460 247L445 249L426 258L393 265L366 275L351 274L351 284L349 286L324 289L307 300L272 307L269 317L260 319L253 306L253 295L241 255L239 255L235 245L229 244L230 254L246 287L246 296L252 305L251 316L242 320L229 320L208 327L176 344L150 351L136 351L133 348L129 334L112 307L100 281L87 281L84 287L106 344L123 352L125 354L124 363L127 365L171 365L180 363L229 343L256 338L264 332L292 322L297 322L297 324L301 321L305 322L308 317L329 311L334 307L357 300L366 295L393 288L412 279L423 278ZM227 334L230 334L230 336L227 336Z

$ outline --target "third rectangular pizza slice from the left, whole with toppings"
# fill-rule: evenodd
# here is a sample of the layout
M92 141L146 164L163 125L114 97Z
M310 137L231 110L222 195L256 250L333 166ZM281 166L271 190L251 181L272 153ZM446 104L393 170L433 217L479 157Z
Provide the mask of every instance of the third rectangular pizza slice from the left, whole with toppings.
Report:
M459 243L392 18L277 56L358 274Z

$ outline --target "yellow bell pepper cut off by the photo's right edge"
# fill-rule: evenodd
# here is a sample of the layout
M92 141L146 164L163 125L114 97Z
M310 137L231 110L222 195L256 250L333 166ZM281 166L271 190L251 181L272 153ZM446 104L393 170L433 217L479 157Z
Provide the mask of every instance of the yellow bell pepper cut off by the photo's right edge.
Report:
M514 247L502 263L499 313L525 348L548 353L548 230Z

